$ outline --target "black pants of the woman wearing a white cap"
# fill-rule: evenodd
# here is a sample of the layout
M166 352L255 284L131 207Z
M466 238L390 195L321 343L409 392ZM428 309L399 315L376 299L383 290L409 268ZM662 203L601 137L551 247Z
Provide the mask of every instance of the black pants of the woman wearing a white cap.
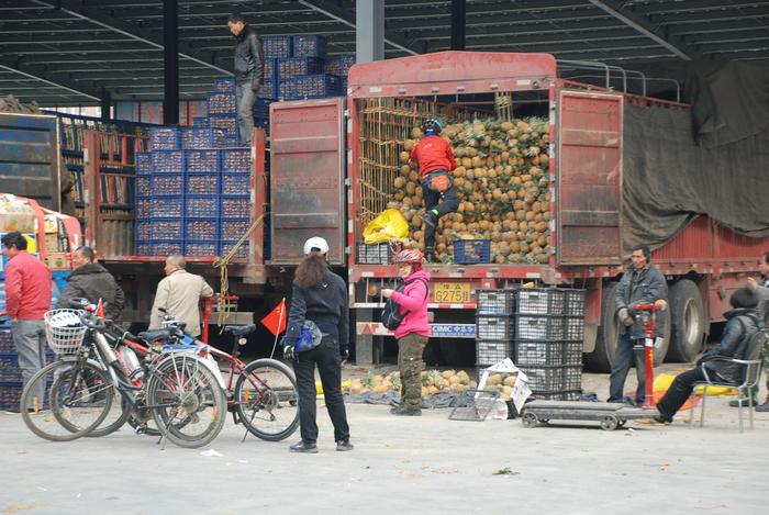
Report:
M302 441L314 444L317 440L317 424L315 422L315 365L323 384L326 408L334 424L334 440L349 439L349 426L345 412L345 401L342 396L342 357L339 344L333 339L323 338L321 345L304 352L298 352L293 362L299 389L299 427Z

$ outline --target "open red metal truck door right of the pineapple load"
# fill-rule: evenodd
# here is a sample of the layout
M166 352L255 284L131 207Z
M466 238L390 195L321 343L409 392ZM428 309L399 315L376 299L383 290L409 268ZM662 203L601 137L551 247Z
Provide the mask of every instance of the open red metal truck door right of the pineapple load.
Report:
M558 261L622 261L622 96L561 91Z

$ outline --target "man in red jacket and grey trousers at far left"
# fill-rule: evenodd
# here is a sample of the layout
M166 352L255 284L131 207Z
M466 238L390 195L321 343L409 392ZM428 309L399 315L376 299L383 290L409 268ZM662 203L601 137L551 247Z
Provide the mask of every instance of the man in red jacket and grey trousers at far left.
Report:
M8 258L5 311L11 320L21 377L26 384L45 365L43 315L51 309L51 271L26 251L26 239L18 231L2 238L2 251ZM44 398L42 382L36 396Z

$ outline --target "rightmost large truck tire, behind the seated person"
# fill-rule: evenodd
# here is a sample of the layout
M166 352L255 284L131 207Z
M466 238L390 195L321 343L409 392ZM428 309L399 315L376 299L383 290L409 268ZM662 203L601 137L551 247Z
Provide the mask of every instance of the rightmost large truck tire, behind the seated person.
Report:
M670 287L669 361L693 361L706 333L705 304L694 281L681 279Z

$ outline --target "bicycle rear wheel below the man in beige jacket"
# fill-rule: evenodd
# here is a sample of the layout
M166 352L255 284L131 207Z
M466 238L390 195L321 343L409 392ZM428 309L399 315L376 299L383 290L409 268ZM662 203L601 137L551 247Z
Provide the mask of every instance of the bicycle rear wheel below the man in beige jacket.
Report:
M147 407L165 436L180 447L202 447L224 426L226 398L202 359L170 356L147 382Z

